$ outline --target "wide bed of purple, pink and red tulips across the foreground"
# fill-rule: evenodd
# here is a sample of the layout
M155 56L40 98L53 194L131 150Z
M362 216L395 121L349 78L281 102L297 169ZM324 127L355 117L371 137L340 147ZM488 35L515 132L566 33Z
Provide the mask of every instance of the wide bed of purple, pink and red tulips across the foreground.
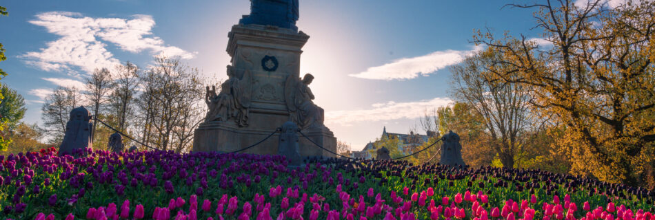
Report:
M653 191L540 170L54 148L0 161L0 219L655 219Z

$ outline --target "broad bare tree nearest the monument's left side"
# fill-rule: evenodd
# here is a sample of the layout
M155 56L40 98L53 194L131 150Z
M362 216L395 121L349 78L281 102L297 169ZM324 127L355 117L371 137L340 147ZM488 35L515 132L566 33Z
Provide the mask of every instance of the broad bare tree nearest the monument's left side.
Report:
M156 65L139 74L143 92L137 100L143 140L163 150L188 149L203 120L203 87L197 69L179 58L157 57Z

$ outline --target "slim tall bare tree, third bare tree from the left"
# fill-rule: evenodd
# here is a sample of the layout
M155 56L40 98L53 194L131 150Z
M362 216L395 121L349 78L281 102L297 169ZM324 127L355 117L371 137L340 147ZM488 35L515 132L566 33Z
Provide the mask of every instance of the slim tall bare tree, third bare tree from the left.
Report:
M133 63L117 65L117 79L115 81L114 91L110 97L110 107L112 113L117 115L118 129L127 130L127 119L132 111L132 101L136 94L138 85L137 74L139 67Z

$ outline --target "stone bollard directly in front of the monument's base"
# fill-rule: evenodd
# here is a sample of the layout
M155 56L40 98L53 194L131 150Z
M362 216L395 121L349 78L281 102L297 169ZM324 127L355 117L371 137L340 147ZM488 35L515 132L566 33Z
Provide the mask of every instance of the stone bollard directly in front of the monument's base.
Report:
M294 122L284 122L277 148L277 154L287 157L291 166L300 166L303 163L303 157L300 156L297 132L298 126Z

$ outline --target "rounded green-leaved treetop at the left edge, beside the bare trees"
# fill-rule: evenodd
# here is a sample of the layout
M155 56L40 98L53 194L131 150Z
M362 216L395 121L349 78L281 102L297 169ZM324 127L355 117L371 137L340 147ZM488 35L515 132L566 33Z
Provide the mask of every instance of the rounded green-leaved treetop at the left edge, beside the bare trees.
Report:
M17 91L11 89L4 83L0 83L0 115L6 120L5 126L12 131L19 124L25 115L25 99Z

